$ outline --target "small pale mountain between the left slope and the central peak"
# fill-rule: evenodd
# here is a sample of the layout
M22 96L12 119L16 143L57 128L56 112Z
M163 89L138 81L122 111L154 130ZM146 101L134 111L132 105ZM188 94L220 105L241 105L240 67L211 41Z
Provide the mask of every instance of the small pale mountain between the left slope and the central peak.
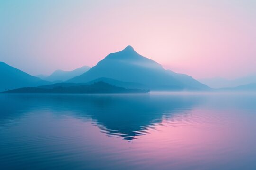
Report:
M77 68L72 71L63 71L63 70L56 70L53 72L50 76L47 76L43 78L44 80L47 81L66 81L68 79L71 79L75 76L82 75L86 71L88 71L91 67L89 66L83 66L81 68Z

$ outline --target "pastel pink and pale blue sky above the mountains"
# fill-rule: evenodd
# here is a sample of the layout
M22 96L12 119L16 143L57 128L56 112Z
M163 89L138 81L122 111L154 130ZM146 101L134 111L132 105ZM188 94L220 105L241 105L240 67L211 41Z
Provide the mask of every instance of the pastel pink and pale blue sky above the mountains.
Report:
M0 61L31 75L131 45L194 78L256 74L256 0L0 0Z

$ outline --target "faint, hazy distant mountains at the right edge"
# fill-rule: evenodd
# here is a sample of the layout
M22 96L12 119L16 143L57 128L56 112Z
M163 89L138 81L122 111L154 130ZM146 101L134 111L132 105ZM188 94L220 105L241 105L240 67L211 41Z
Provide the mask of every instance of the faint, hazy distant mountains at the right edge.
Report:
M244 76L237 79L225 79L221 77L215 78L205 78L199 80L201 83L208 85L211 88L228 88L228 87L237 87L240 85L247 85L251 83L256 83L256 74Z

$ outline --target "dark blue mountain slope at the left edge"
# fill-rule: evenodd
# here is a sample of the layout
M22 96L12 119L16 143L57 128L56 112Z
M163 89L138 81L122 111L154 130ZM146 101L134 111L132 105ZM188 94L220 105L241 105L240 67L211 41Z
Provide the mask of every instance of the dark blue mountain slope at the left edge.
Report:
M17 68L9 66L4 62L0 62L0 91L27 86L35 87L38 85L47 85L49 83L50 82L31 76Z

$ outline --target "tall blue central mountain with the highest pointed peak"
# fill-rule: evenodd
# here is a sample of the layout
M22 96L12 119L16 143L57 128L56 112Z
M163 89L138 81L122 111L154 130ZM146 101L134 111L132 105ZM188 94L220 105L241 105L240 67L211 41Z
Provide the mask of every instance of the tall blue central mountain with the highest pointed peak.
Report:
M110 53L89 71L67 82L90 82L98 78L146 85L151 90L209 90L191 76L165 70L157 62L141 56L131 46Z

